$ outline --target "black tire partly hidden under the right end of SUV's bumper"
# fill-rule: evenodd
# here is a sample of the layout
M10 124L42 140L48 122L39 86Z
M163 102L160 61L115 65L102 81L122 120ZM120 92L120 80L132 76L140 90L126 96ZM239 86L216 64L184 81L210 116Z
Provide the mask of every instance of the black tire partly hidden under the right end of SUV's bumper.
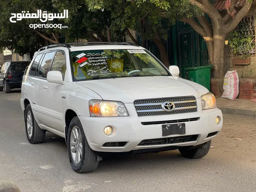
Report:
M182 154L182 156L190 159L197 159L197 158L202 158L206 156L211 148L211 143L212 140L206 142L204 145L190 149L188 150L187 148L180 148L179 151Z

